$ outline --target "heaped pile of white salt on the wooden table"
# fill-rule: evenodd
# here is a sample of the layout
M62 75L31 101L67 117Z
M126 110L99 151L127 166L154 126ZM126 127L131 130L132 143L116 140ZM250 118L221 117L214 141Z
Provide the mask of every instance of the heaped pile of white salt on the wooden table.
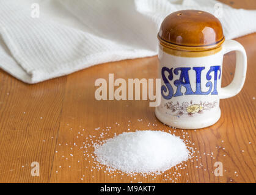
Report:
M161 173L189 158L183 140L161 131L124 132L94 147L101 164L128 174Z

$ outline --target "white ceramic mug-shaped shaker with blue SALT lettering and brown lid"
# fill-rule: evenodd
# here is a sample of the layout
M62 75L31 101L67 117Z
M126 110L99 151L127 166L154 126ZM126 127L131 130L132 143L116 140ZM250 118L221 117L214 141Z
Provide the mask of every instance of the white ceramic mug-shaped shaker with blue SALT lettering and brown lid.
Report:
M225 40L218 18L200 10L181 10L167 16L159 33L161 104L156 117L172 127L199 129L221 117L219 100L238 94L246 78L243 46ZM221 87L223 55L236 51L232 82Z

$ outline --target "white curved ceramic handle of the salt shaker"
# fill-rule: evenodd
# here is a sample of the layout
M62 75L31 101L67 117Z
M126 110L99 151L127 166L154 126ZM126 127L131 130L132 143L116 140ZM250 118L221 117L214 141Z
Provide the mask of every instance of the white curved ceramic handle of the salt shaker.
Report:
M236 51L236 69L232 82L227 87L219 90L219 98L230 98L238 94L243 88L246 79L247 57L244 47L234 40L226 40L222 45L224 54L230 51Z

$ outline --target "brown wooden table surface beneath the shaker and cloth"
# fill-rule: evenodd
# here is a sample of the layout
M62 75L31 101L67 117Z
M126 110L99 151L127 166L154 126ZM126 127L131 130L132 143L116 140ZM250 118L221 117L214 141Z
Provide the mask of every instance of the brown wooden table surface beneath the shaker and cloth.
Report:
M224 2L256 9L255 1ZM187 168L179 171L181 176L172 178L174 182L256 181L256 34L236 40L243 44L248 57L244 88L237 96L221 100L222 116L216 124L186 131L186 137L199 151L199 160L188 160ZM131 131L170 129L156 120L148 101L94 98L96 79L108 79L109 73L115 78L155 78L157 66L156 57L124 60L36 85L27 85L0 71L0 182L173 182L165 180L164 174L155 178L137 176L135 180L121 174L111 177L104 170L91 171L92 162L85 160L79 148L89 135L98 136L98 127L111 126L109 137L127 131L128 124ZM232 80L234 69L232 52L224 57L223 86ZM177 129L175 135L181 133ZM40 165L39 177L31 176L33 161ZM224 176L214 176L216 161L223 163ZM166 173L174 171L172 168Z

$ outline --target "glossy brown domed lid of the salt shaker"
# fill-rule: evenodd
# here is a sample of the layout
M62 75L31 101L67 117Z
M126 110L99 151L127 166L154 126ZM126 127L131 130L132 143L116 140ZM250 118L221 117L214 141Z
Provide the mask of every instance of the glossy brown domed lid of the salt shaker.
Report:
M219 19L200 10L181 10L168 15L158 38L167 47L189 51L218 48L224 41Z

